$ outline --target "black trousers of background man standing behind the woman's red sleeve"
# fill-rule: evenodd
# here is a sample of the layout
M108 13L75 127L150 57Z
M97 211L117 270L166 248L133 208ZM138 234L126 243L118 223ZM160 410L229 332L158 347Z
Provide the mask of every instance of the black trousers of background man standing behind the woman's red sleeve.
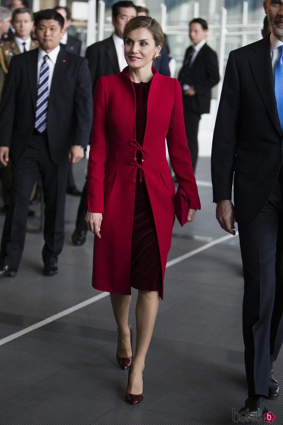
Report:
M199 132L199 120L201 116L195 112L189 111L185 104L183 105L184 109L184 121L188 147L191 151L191 159L193 164L193 171L196 169L196 161L199 153L198 145L198 132Z

